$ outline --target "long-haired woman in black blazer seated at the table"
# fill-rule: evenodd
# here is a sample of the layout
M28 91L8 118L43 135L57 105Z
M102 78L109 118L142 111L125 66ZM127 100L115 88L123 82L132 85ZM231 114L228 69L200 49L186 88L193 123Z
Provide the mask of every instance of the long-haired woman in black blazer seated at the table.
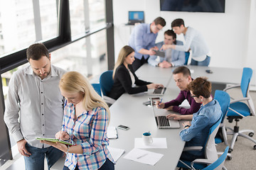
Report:
M114 65L114 84L108 95L110 98L117 100L117 98L125 92L128 94L138 94L147 91L148 89L156 89L160 86L163 87L161 84L153 84L138 79L132 69L132 62L134 62L134 50L132 47L125 45L120 50L117 62ZM135 84L137 86L135 86Z

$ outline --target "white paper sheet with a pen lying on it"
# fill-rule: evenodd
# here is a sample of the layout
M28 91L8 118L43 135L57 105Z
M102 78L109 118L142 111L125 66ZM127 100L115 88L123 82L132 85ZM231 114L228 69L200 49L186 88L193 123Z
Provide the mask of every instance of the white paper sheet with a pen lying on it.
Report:
M164 154L158 154L155 152L149 152L143 149L134 148L127 155L124 156L124 159L130 159L135 162L154 166L154 164L156 164L156 162L159 162L159 160L163 156Z

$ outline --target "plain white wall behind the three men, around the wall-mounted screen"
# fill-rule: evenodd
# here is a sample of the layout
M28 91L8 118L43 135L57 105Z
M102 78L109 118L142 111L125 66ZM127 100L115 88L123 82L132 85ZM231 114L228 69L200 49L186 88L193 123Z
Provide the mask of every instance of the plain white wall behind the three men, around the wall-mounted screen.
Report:
M117 58L119 50L128 44L132 26L128 11L144 11L145 22L151 23L161 16L166 26L159 32L156 42L163 40L164 30L171 29L171 21L183 18L186 26L200 30L206 38L213 56L213 67L256 68L256 3L255 0L226 0L225 13L189 13L160 11L159 0L113 0L114 49Z

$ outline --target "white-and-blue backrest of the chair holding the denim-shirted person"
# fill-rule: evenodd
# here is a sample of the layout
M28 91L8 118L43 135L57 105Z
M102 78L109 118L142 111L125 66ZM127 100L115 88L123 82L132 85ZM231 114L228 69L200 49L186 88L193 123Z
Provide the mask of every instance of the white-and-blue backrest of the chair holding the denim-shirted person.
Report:
M217 149L215 146L215 135L218 132L218 128L220 126L221 120L222 120L222 117L220 117L219 120L216 123L214 123L210 128L208 133L208 138L204 146L206 159L209 159L213 162L215 162L215 160L218 159Z

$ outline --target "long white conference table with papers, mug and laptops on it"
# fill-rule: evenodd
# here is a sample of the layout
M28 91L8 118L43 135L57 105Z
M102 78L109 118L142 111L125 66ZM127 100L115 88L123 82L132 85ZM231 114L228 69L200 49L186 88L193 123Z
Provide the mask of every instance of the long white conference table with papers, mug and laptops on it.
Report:
M186 66L191 69L191 77L208 77L209 81L213 84L240 84L242 77L242 69L229 69L220 67L198 67ZM176 98L179 93L178 87L172 78L172 71L174 68L160 68L151 67L149 64L144 64L140 67L136 74L139 79L151 81L157 84L166 84L166 93L163 102L171 101ZM213 71L208 74L206 69ZM118 125L126 125L129 130L119 130L118 139L110 140L110 147L124 149L125 153L120 157L115 165L116 169L175 169L178 159L183 150L185 142L179 137L179 132L183 129L165 129L159 130L156 128L154 115L151 108L144 106L142 103L148 101L149 96L145 94L129 95L123 94L117 101L110 107L111 119L110 125L117 127ZM157 111L157 108L156 110ZM166 111L167 112L167 111ZM168 113L165 113L168 114ZM134 148L134 138L142 137L143 132L150 131L153 137L166 137L167 149L146 149L151 152L164 154L159 162L154 166L133 162L123 157Z

